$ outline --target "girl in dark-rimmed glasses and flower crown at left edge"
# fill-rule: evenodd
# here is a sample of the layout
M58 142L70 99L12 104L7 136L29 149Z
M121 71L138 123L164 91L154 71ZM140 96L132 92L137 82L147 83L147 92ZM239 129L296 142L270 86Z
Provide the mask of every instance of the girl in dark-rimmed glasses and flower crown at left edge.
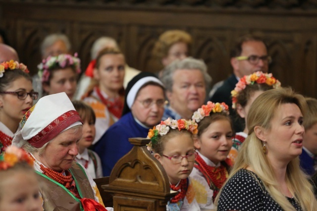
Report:
M28 73L27 67L17 61L0 64L0 153L11 145L23 115L38 97Z

